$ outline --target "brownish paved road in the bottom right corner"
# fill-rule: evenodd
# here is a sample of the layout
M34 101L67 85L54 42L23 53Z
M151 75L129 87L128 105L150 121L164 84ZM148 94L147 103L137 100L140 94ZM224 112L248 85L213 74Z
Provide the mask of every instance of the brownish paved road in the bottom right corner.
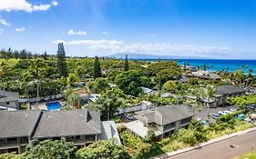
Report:
M231 148L230 144L237 144L239 147ZM209 144L199 150L192 150L187 153L177 154L168 159L230 159L236 155L256 149L256 131L241 134L215 144Z

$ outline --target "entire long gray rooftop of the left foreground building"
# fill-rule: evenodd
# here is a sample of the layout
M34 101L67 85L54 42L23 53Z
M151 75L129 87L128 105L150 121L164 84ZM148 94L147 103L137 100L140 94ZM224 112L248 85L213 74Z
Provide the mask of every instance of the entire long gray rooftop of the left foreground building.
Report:
M0 138L29 136L44 138L79 134L100 134L100 114L88 110L2 111Z

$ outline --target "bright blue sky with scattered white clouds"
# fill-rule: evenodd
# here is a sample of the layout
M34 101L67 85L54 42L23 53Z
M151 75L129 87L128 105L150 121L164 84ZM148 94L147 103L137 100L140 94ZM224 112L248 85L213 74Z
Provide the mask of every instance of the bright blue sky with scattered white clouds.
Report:
M256 0L0 0L0 48L256 59Z

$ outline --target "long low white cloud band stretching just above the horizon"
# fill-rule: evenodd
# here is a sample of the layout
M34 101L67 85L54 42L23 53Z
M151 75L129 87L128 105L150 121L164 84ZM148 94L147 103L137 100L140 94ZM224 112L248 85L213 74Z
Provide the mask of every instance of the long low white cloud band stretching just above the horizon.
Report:
M208 45L176 45L176 44L143 44L135 43L125 45L123 41L119 40L74 40L64 41L55 40L52 43L64 43L65 45L86 45L92 50L102 50L111 52L126 52L126 53L152 53L160 55L212 55L212 54L226 54L232 50L229 47L218 47Z

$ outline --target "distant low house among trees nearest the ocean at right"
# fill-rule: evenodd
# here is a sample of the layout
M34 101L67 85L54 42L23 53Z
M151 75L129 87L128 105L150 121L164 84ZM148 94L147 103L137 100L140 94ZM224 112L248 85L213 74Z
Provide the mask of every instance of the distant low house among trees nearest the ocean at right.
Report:
M220 76L214 73L210 73L208 71L198 70L196 72L189 72L186 74L188 77L197 77L200 79L206 80L220 80Z

